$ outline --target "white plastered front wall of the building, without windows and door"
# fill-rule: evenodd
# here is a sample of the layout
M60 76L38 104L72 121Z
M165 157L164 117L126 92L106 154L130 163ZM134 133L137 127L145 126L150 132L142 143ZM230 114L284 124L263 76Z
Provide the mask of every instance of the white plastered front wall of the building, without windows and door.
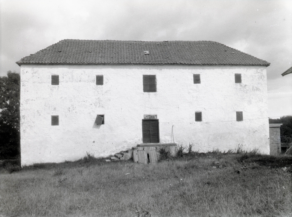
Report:
M242 83L234 82L240 73ZM143 92L142 75L156 75L157 92ZM201 84L193 83L201 75ZM59 85L51 85L59 75ZM103 75L104 85L95 85ZM195 112L202 122L195 122ZM236 121L243 111L244 121ZM105 124L94 124L96 115ZM259 66L22 65L21 163L107 156L142 143L144 114L159 119L160 142L206 152L240 144L269 153L266 69ZM51 126L51 115L59 125ZM249 120L253 119L253 120Z

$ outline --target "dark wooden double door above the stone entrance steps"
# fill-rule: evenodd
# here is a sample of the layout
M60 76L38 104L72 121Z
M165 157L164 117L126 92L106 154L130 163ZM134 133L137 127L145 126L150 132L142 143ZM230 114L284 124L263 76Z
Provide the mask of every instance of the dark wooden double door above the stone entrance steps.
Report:
M158 143L158 120L142 120L142 136L143 143Z

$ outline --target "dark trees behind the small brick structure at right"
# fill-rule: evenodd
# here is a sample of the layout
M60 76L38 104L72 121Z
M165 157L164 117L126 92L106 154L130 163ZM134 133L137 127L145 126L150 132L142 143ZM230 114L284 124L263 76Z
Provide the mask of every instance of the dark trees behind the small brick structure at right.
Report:
M279 124L283 125L280 127L280 136L282 143L292 142L292 115L282 116L277 119L269 119L270 124Z

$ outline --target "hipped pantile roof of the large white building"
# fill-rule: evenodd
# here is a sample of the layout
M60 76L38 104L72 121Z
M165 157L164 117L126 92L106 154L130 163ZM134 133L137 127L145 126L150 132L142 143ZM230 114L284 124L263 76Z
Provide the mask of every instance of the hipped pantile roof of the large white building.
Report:
M144 54L149 51L149 54ZM270 63L214 41L111 41L65 39L22 58L21 64L191 64Z

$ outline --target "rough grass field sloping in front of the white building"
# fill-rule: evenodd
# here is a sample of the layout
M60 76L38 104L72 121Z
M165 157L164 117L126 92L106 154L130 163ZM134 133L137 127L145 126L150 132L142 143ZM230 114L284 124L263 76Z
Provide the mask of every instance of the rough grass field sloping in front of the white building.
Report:
M213 151L153 165L88 156L2 169L0 216L288 217L291 164L291 156Z

